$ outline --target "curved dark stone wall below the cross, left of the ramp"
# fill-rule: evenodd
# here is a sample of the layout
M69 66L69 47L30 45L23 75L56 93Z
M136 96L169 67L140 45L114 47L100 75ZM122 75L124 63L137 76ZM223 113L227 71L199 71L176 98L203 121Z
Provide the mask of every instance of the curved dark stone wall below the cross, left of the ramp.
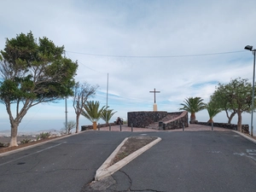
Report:
M166 111L140 111L128 112L127 120L128 126L145 128L146 126L158 122L160 119L166 117Z

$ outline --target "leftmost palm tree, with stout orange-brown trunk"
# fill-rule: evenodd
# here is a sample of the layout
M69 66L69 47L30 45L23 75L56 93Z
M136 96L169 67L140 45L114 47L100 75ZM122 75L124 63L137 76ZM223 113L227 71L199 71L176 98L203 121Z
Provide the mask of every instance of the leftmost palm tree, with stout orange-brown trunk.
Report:
M105 106L100 108L100 102L86 102L83 106L82 115L89 119L93 123L93 129L96 130L96 123L101 118L102 111L104 110Z

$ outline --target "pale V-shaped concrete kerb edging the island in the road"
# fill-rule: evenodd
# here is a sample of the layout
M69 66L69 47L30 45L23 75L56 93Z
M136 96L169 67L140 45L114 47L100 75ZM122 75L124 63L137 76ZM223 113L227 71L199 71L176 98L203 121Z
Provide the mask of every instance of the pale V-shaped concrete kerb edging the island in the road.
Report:
M128 137L125 138L125 140L119 144L119 146L113 151L112 154L108 157L107 160L100 166L96 171L95 180L99 181L104 177L108 177L112 175L114 172L117 172L120 168L127 165L131 160L134 160L139 156L140 154L143 154L148 148L153 147L156 143L159 143L161 141L160 137L157 137L153 142L148 143L143 148L138 149L137 151L133 152L132 154L125 157L123 160L119 160L119 162L115 163L113 166L109 166L111 161L113 160L114 156L119 152L119 149L124 145Z

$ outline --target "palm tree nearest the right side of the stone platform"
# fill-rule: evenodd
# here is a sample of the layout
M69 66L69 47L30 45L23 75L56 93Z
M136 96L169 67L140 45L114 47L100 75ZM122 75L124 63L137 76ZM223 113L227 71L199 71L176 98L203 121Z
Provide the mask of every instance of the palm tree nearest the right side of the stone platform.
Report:
M202 109L206 108L206 104L202 102L203 99L201 97L189 97L185 99L184 103L180 103L180 105L183 106L183 108L179 108L179 110L185 110L190 115L190 123L195 122L195 113L201 111Z

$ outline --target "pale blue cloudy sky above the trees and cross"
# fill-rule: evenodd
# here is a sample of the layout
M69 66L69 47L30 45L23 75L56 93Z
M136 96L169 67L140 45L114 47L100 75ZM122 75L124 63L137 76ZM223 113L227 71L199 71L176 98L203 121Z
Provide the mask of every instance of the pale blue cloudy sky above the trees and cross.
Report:
M208 102L218 82L253 81L253 54L244 47L256 46L254 0L12 0L1 7L0 49L6 38L30 31L64 45L67 58L79 62L75 80L99 85L90 100L106 105L108 84L108 106L117 111L111 121L126 119L127 112L152 111L154 89L160 91L158 110L177 112L190 96ZM72 97L67 119L75 120ZM207 121L207 110L196 119ZM213 120L227 122L225 113ZM242 115L242 124L250 120L251 114ZM60 130L64 122L64 101L39 104L19 131ZM80 117L80 125L90 124ZM9 129L1 104L0 131Z

